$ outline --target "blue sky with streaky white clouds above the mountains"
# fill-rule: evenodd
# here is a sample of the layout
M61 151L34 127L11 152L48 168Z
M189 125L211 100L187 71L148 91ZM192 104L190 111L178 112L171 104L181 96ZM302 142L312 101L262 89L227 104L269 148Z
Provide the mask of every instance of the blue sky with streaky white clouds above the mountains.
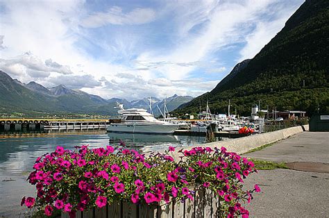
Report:
M0 69L128 100L199 96L253 58L303 0L0 0Z

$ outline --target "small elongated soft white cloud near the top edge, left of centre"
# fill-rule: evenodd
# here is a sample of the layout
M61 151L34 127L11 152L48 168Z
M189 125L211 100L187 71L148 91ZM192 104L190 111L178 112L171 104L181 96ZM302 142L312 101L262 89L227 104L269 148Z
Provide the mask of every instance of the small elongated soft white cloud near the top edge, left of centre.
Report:
M138 25L152 22L155 11L151 8L135 8L128 13L122 12L120 7L112 7L107 12L96 12L94 15L83 19L81 25L87 28L96 28L108 24Z

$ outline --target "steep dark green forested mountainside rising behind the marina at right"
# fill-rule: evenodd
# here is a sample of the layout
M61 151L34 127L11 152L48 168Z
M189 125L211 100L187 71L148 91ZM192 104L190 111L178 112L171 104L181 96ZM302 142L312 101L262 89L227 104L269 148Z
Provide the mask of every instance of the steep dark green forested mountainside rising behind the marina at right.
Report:
M211 91L174 112L231 108L250 115L253 103L261 108L329 112L329 1L307 0L285 27L251 60L237 64Z

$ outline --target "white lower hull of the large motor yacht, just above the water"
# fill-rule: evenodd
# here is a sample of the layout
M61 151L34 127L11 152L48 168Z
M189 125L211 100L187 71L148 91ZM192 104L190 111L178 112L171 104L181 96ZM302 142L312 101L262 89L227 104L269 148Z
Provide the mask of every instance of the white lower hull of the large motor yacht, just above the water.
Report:
M108 126L108 132L172 134L178 127L179 125L110 124L110 126Z

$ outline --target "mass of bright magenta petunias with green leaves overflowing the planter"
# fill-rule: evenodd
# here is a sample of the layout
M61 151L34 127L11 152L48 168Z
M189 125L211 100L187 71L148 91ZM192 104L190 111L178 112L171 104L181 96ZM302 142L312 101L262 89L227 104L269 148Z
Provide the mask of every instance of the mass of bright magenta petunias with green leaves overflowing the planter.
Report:
M243 179L256 171L253 162L223 147L180 150L181 160L175 162L170 155L174 151L169 147L166 153L145 156L122 147L78 146L71 151L58 146L35 161L28 181L35 185L37 197L24 197L21 204L47 216L62 210L75 217L78 210L102 208L114 201L193 200L194 190L203 187L218 194L223 215L248 217L241 202L250 202L252 192L260 192L257 185L254 190L242 190Z

